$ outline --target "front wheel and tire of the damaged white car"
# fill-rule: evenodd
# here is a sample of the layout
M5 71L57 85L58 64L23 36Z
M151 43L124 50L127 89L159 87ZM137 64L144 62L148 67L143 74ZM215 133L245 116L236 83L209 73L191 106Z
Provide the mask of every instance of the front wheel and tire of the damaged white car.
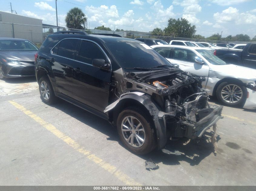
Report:
M238 82L222 82L216 90L216 96L223 105L240 107L247 98L247 89Z

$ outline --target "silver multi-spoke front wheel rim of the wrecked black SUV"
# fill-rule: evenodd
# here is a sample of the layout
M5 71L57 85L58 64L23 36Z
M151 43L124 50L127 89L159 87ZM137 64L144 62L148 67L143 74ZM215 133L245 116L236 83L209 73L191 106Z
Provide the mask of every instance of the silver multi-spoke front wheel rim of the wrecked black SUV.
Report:
M121 131L132 147L139 148L145 143L145 129L136 117L126 116L121 123Z

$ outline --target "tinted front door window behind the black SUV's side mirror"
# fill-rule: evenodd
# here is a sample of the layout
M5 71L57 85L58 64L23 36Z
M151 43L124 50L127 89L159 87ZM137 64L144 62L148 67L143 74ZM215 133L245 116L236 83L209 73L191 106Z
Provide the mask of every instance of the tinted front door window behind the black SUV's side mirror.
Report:
M97 45L88 41L82 41L78 60L92 64L93 59L106 59L106 57Z

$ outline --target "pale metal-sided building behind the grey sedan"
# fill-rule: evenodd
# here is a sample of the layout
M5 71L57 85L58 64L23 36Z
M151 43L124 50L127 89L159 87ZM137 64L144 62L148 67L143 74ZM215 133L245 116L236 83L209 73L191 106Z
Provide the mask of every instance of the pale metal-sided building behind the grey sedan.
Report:
M0 37L43 42L42 19L0 11Z

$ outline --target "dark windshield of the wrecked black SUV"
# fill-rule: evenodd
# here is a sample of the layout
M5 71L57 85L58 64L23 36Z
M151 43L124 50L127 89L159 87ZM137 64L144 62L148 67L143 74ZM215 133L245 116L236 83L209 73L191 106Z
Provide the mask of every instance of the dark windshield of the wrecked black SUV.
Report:
M164 57L144 43L114 42L106 43L106 46L123 69L151 68L159 65L172 66Z

